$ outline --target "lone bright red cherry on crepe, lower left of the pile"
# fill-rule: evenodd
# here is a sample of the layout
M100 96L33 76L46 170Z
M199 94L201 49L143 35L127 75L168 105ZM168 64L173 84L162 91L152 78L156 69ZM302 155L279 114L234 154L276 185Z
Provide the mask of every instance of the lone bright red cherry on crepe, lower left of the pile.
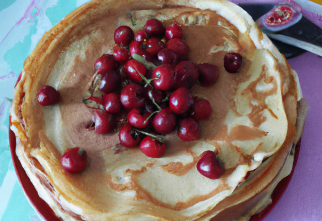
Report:
M60 158L60 164L67 173L78 173L85 169L88 162L87 152L79 147L67 150Z

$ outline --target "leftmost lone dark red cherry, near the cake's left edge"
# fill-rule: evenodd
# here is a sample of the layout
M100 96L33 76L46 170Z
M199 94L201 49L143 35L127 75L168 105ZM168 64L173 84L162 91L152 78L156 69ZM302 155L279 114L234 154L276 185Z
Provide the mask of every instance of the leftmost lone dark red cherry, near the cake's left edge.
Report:
M59 101L59 94L52 86L45 85L38 90L37 100L42 106L52 105Z

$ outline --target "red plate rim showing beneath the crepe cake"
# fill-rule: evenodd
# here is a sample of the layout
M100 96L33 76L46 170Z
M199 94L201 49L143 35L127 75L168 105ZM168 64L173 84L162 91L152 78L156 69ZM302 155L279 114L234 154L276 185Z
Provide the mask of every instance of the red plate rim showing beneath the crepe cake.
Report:
M11 127L11 116L10 116L10 127ZM24 189L26 196L28 197L30 203L35 208L35 210L46 220L46 221L61 221L53 212L53 210L49 207L49 205L39 197L37 190L35 189L34 185L31 183L29 177L27 176L24 168L22 167L17 155L16 155L16 136L15 133L10 130L9 127L9 143L10 143L10 150L11 150L11 157L12 161L15 166L15 170L18 176L18 180ZM265 216L273 209L273 207L276 205L278 200L283 195L286 187L288 186L293 172L294 168L297 162L298 154L300 151L300 145L301 140L298 141L296 148L295 148L295 155L294 155L294 162L293 162L293 169L291 171L291 174L282 179L278 185L276 186L275 190L272 194L272 203L268 205L262 212L253 215L250 219L250 221L262 221Z

